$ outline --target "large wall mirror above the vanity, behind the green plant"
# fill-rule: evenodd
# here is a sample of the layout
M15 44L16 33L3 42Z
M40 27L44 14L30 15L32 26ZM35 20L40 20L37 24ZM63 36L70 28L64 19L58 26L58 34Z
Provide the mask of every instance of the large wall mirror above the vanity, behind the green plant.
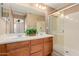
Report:
M0 34L24 33L27 28L45 32L45 15L19 4L0 4Z

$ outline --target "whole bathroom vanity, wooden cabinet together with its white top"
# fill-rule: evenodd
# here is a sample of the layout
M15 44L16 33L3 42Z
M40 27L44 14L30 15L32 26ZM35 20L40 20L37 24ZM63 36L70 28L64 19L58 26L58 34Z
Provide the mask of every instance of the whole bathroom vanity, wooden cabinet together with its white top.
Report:
M52 35L0 39L0 56L48 56L52 52Z

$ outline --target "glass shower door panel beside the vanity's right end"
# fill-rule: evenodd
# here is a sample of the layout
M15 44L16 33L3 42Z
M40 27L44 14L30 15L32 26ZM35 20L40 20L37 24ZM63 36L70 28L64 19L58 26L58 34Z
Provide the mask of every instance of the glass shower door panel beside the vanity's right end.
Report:
M54 35L54 50L64 53L64 19L59 16L49 17L49 34Z

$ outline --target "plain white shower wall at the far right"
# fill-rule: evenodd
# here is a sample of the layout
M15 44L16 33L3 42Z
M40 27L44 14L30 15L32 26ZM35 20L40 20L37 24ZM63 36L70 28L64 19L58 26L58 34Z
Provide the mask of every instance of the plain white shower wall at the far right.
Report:
M64 17L64 30L65 55L79 56L79 12Z

